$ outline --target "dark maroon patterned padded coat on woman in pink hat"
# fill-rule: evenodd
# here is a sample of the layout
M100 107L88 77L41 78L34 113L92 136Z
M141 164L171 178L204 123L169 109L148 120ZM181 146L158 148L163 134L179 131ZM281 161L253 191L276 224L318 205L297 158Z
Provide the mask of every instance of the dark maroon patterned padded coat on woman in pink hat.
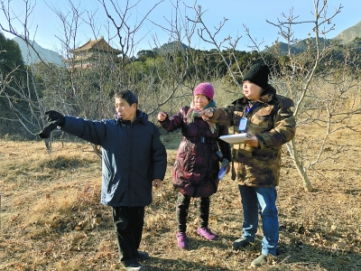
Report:
M173 167L173 187L191 197L208 197L218 190L219 149L230 161L230 145L219 139L228 135L227 126L216 125L212 133L208 122L194 117L189 122L190 107L181 107L172 117L159 122L168 132L181 129L181 141ZM214 124L211 124L215 126ZM219 147L218 147L219 146Z

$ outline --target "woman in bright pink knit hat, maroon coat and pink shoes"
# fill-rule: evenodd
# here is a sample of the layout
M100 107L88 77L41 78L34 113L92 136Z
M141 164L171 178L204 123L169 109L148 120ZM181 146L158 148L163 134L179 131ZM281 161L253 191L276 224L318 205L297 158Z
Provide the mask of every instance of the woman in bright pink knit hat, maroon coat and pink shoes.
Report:
M209 83L200 83L193 91L190 107L181 107L172 117L159 112L160 126L168 132L181 129L181 142L173 167L173 187L178 190L176 238L180 248L188 248L186 235L187 217L191 198L199 198L200 236L214 240L217 238L208 229L209 196L218 190L219 162L227 163L231 159L230 145L218 139L227 135L227 126L208 123L199 116L199 111L216 107L214 88ZM220 152L219 152L220 149ZM226 160L227 159L227 160ZM228 167L229 168L229 167Z

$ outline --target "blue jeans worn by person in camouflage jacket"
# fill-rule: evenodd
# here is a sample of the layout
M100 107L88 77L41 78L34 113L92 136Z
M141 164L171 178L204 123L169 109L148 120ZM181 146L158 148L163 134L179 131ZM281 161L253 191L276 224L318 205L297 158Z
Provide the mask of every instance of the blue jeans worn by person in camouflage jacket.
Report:
M258 210L260 210L264 231L262 254L276 256L279 235L276 188L246 185L238 185L238 188L241 192L244 214L242 238L250 242L255 240L258 227Z

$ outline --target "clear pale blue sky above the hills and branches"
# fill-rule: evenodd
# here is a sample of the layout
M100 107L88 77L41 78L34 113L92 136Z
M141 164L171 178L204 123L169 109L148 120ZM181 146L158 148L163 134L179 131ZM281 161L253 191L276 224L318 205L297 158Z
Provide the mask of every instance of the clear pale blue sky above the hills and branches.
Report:
M109 2L109 0L106 0ZM135 4L138 1L129 0ZM277 23L278 18L281 19L281 14L290 14L290 10L293 7L293 16L299 16L297 22L314 20L314 2L317 0L198 0L197 5L202 7L202 11L205 11L203 20L208 26L209 30L214 32L215 27L223 21L223 18L227 18L227 22L218 33L217 41L222 41L225 37L231 36L233 39L236 36L242 36L238 42L237 49L250 51L249 45L251 44L249 38L245 34L245 27L249 29L251 36L257 42L264 42L264 45L272 45L272 42L279 38L279 41L284 42L278 34L278 28L266 20L273 23ZM322 2L323 0L319 0ZM60 39L63 37L62 27L59 17L54 14L53 10L58 10L67 14L70 10L69 2L76 6L83 16L86 18L88 14L93 14L93 18L97 25L97 33L107 37L108 31L106 30L106 14L104 9L99 7L97 0L37 0L36 2L30 0L32 5L35 5L30 17L31 37L35 36L34 40L38 42L42 47L51 49L54 51L60 50L60 42L56 37ZM125 0L118 0L119 6L124 8ZM162 27L169 28L169 22L172 18L175 18L174 9L172 4L175 5L175 0L141 0L132 9L132 14L128 17L127 22L132 25L136 22L140 22L143 15L145 15L155 4L153 11L149 14L150 21L145 21L138 31L134 39L140 41L137 45L135 52L144 49L150 49L156 45L153 42L153 37L156 36L159 43L162 45L164 42L168 42L170 34L163 31ZM194 6L195 1L183 0L179 2L180 5L180 19L187 14L190 17L194 17L194 12L190 8L186 8L185 5L190 7ZM342 5L341 12L332 19L329 25L335 23L335 30L328 33L328 38L333 38L338 33L346 30L348 27L355 25L361 21L361 1L360 0L329 0L328 1L328 14L333 14L334 10ZM110 7L110 5L108 5ZM53 10L51 10L51 8ZM14 11L15 16L22 21L24 14L23 0L13 0L11 2L11 9ZM14 26L19 33L22 33L22 26L17 20L14 20ZM0 23L6 28L5 16L0 12ZM161 26L162 27L161 27ZM298 39L304 39L308 37L308 34L313 33L311 31L313 25L310 23L301 23L294 27L294 35ZM3 31L4 33L4 31ZM110 33L115 33L114 29L110 30ZM13 38L14 36L5 33L7 38ZM77 41L79 45L88 42L89 39L94 39L95 36L91 31L91 28L85 22L80 22L79 33ZM187 43L187 42L184 42ZM116 39L112 44L116 45ZM209 45L207 42L202 42L197 34L193 34L191 38L191 45L193 48L199 49L212 49L214 46Z

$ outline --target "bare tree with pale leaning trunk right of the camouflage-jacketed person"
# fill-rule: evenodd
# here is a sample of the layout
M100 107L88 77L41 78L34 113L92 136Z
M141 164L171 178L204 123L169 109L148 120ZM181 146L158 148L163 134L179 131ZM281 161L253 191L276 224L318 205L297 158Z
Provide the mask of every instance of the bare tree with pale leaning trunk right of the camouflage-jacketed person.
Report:
M294 138L287 144L291 157L303 180L304 189L312 191L312 186L307 174L310 169L315 169L316 164L328 159L337 159L338 154L343 152L347 145L333 145L329 142L329 135L344 128L352 128L359 124L350 125L351 118L360 112L361 107L347 103L353 91L357 87L357 80L354 74L359 68L349 65L358 55L353 55L350 59L349 50L344 49L345 63L342 67L330 68L328 62L332 61L332 49L337 46L337 42L328 42L327 34L334 29L333 18L341 12L342 5L335 9L333 14L328 14L327 1L313 1L314 20L311 22L297 22L297 17L293 16L293 10L288 16L282 14L283 20L272 23L279 28L279 33L287 41L288 60L282 66L279 75L282 79L284 91L295 101L294 115L299 126L306 123L318 123L320 127L325 127L323 138L309 140L307 148L305 145L297 149ZM292 52L292 46L297 42L294 39L292 26L297 23L311 23L311 30L315 38L306 41L307 51L303 54ZM321 38L323 37L323 39ZM278 54L279 57L279 54ZM355 73L356 72L356 73ZM307 150L319 149L316 157L306 155ZM301 151L300 151L301 150ZM325 150L332 150L325 152Z

